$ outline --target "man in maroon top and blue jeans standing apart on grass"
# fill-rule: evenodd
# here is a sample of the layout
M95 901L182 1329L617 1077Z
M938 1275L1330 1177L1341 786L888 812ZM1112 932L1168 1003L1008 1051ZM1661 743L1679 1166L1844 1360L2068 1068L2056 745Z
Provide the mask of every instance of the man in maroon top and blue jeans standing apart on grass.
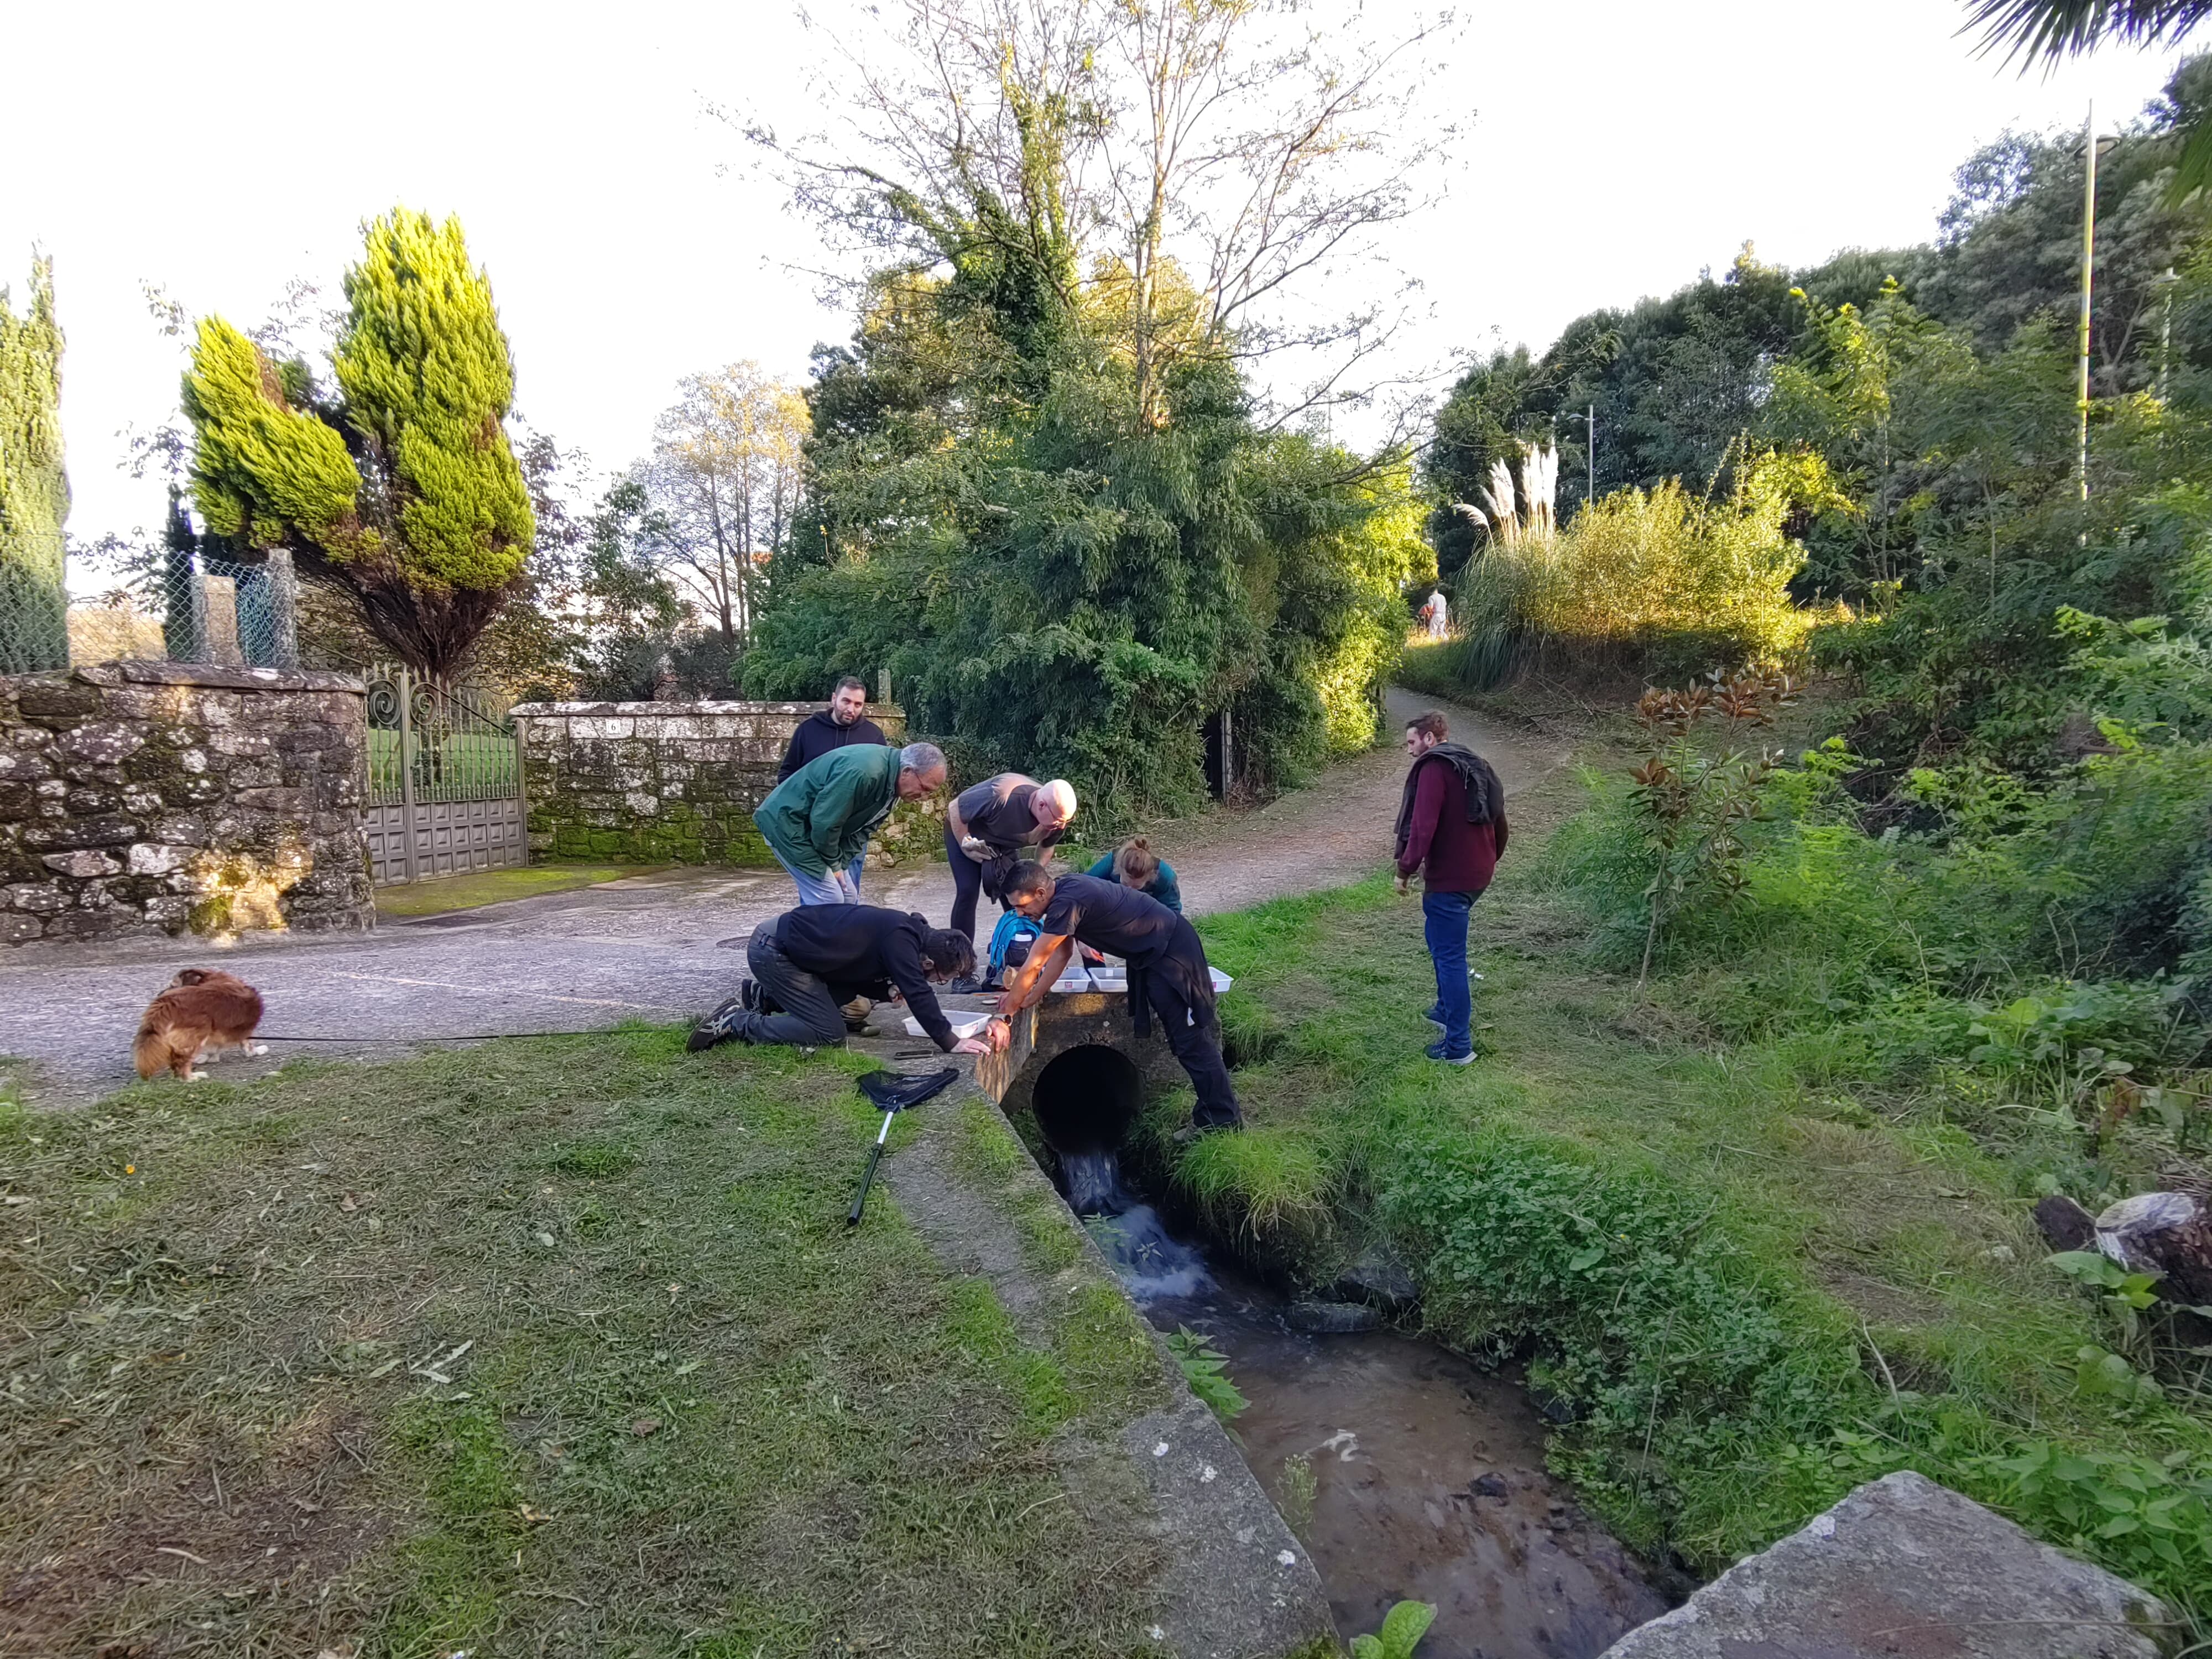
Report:
M1429 1044L1429 1060L1464 1066L1475 1057L1467 914L1506 849L1506 792L1489 761L1464 743L1444 741L1447 730L1436 712L1416 714L1405 728L1413 770L1398 807L1398 891L1420 872L1422 933L1436 962L1429 1024L1444 1031Z

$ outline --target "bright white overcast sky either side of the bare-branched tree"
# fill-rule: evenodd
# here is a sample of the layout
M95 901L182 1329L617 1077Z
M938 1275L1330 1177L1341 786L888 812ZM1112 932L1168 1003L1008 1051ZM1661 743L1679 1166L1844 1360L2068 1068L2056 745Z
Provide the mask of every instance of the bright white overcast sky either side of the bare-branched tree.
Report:
M1325 18L1356 0L1316 0ZM887 7L889 9L889 7ZM708 111L779 124L807 35L785 0L622 7L380 0L29 4L11 60L0 283L53 254L69 529L155 526L124 427L175 409L181 343L142 283L239 325L336 279L363 217L458 212L513 341L518 411L617 469L684 374L799 378L847 319L792 270L821 254ZM1378 13L1389 15L1389 13ZM1396 228L1436 316L1409 358L1544 345L1595 305L1723 270L1927 239L1951 170L2006 126L2132 117L2170 58L2022 80L1955 38L1951 0L1478 4L1451 51L1469 122L1451 199Z

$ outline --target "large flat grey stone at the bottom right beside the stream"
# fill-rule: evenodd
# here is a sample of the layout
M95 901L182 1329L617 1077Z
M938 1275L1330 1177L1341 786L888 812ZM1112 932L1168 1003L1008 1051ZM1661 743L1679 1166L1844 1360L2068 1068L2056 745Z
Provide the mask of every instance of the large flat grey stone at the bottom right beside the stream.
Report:
M1860 1486L1604 1659L2159 1659L2166 1610L1916 1473Z

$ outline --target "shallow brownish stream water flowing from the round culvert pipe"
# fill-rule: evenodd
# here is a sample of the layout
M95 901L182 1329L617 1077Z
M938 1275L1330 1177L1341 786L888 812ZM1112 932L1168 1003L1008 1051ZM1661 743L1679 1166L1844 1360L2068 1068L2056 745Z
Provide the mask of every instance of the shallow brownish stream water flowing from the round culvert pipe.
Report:
M1340 1635L1416 1599L1436 1604L1422 1659L1595 1659L1666 1613L1644 1566L1544 1473L1544 1425L1515 1380L1389 1329L1292 1329L1276 1292L1126 1192L1113 1152L1060 1164L1146 1316L1228 1356L1252 1402L1232 1425L1245 1462L1312 1551Z

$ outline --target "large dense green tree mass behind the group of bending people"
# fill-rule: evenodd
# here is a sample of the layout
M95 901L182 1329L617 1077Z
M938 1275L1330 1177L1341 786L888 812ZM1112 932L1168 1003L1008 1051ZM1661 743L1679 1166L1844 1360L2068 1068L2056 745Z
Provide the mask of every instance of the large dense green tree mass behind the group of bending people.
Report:
M1172 261L1141 299L1086 268L1071 124L1004 95L1000 175L951 155L942 190L872 199L916 257L816 356L812 493L745 686L889 670L964 772L1064 772L1099 827L1194 805L1217 712L1241 785L1294 783L1374 739L1427 560L1409 471L1261 429Z

